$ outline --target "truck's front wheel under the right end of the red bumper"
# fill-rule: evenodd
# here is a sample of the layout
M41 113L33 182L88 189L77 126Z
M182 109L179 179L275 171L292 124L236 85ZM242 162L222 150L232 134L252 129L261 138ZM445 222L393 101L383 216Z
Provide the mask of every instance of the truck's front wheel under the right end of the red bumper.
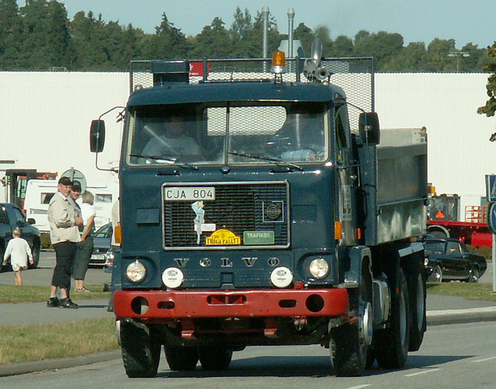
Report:
M361 376L366 368L367 351L372 342L373 332L371 302L371 275L366 266L363 266L361 283L352 302L352 307L358 308L359 320L354 325L346 323L331 329L330 332L329 351L331 365L336 376Z

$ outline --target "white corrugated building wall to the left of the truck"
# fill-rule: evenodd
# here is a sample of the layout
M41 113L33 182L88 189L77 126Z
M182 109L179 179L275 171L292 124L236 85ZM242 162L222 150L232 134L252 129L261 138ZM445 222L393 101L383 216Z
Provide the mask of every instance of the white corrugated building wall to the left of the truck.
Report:
M0 176L5 169L38 169L62 174L74 167L88 181L117 181L98 171L89 152L92 119L129 95L126 73L0 72ZM98 165L117 167L122 125L106 116L107 136ZM0 193L4 201L4 191Z

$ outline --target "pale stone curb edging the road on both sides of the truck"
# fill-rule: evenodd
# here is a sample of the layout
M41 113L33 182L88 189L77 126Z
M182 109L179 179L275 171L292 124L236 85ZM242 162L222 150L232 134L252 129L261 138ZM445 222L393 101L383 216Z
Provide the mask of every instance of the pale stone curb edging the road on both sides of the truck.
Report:
M496 307L427 311L428 327L494 321L496 321ZM0 377L17 376L19 374L34 373L37 371L55 371L60 368L91 365L91 363L113 361L114 359L120 359L120 350L103 351L97 354L74 356L71 358L12 363L10 365L0 366Z

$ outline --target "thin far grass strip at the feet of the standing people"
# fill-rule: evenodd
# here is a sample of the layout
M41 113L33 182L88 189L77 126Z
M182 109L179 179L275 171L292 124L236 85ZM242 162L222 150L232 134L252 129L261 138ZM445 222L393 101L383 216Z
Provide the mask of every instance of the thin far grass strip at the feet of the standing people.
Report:
M74 292L71 291L71 300L96 300L108 299L111 296L110 292L103 292L102 286L86 286L91 291ZM38 303L47 301L50 298L50 285L34 286L34 285L0 285L0 303Z

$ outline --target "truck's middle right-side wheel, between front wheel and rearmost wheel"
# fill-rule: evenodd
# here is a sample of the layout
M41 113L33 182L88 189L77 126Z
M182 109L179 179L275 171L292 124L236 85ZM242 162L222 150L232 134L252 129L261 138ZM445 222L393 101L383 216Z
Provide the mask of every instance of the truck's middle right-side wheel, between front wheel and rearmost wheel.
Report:
M401 368L408 354L410 306L402 269L398 269L395 289L398 293L392 293L390 327L374 332L374 349L381 368Z

